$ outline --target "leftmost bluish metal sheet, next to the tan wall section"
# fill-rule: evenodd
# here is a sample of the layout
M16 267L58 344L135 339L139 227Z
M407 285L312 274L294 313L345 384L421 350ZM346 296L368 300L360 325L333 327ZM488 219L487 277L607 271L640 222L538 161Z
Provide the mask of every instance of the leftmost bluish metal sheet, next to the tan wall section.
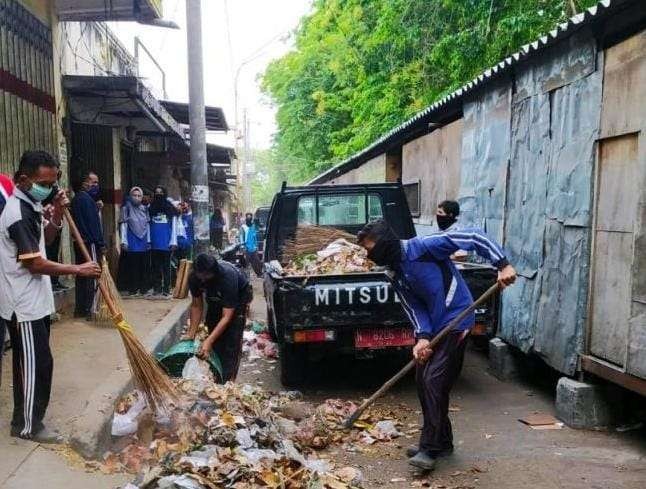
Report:
M465 103L460 224L502 242L509 162L511 83L501 80Z

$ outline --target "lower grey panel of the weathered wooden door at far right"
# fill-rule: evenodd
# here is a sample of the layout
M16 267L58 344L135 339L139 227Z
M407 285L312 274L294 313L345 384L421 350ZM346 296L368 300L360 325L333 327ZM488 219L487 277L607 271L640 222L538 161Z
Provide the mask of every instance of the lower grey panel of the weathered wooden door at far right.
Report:
M620 366L627 354L632 262L632 233L597 231L590 351Z

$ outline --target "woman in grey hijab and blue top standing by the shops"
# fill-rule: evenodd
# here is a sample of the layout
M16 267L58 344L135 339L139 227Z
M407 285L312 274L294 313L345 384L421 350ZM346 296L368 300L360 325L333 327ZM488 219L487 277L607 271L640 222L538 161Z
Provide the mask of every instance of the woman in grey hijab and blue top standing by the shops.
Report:
M127 292L131 297L146 293L150 261L150 216L142 204L141 187L132 187L121 208L121 250Z

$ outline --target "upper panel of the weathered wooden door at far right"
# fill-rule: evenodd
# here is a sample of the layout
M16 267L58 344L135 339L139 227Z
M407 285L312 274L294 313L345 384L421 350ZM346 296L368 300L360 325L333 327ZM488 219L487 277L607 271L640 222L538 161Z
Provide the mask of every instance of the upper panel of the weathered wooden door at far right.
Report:
M632 233L639 202L638 134L604 139L599 147L598 231Z

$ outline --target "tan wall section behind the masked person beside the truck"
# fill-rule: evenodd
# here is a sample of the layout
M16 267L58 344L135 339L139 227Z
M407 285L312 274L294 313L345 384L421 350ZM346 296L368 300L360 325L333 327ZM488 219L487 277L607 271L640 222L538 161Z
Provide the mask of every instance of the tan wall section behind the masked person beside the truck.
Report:
M457 199L460 190L462 119L407 143L402 148L402 182L420 182L420 233L435 224L437 204Z

